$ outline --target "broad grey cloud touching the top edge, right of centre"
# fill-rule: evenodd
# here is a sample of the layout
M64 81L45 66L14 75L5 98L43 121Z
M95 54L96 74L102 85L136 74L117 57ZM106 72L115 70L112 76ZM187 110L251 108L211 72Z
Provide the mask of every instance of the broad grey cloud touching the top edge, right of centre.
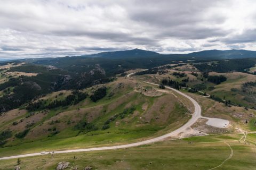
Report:
M207 9L220 5L220 1L137 1L131 7L131 18L146 22L157 27L176 27L183 24L197 24L201 22L223 23L225 15L216 11L212 17L203 18ZM223 1L222 1L223 2ZM226 4L223 2L223 4ZM222 5L223 5L222 4Z

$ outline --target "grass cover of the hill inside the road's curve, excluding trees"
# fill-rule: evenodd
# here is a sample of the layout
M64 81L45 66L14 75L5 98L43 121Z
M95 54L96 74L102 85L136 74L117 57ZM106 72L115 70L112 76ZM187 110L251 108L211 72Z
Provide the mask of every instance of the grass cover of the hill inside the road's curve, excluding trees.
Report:
M108 94L116 88L118 83L108 84ZM11 114L6 114L9 119L2 123L4 125L2 130L9 128L13 134L25 130L29 122L35 124L25 138L10 138L5 147L0 148L1 156L40 152L42 150L131 143L177 129L190 118L188 114L190 112L186 106L188 104L184 104L188 103L186 99L178 100L172 94L162 94L156 97L146 96L134 92L134 86L133 83L127 83L124 88L115 89L113 96L106 96L97 103L93 103L87 98L78 105L53 109L49 113L38 112L27 118L25 116L28 116L29 113L24 115L22 112L22 115L16 117L10 117ZM143 88L143 84L141 88ZM44 98L54 99L55 95L57 94L50 94ZM131 107L135 108L133 114L128 114L124 118L117 117L115 121L109 123L110 128L102 130L103 124L110 117ZM21 118L25 121L20 122ZM97 126L98 130L90 132L74 130L74 126L84 119ZM52 123L57 120L59 122ZM12 125L13 121L19 122L18 125ZM49 131L49 129L54 128L59 133L51 135L52 131Z

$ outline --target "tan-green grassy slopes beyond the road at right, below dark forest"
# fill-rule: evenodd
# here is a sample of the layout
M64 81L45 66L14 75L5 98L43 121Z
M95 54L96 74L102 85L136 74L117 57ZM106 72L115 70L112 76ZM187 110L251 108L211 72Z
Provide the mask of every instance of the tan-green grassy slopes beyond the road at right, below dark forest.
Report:
M190 65L183 65L179 67L175 67L171 70L167 70L168 72L165 74L146 74L135 76L134 78L142 81L151 81L154 83L160 83L163 79L171 79L175 81L182 81L183 79L189 79L186 84L189 87L196 87L198 84L203 84L205 89L201 91L206 92L210 95L215 95L221 99L231 100L231 102L241 105L243 107L256 107L256 96L255 94L250 93L251 91L255 91L255 88L250 88L247 91L242 89L243 83L249 81L256 81L256 75L242 73L242 72L229 72L229 73L216 73L210 72L209 75L223 75L227 78L227 81L224 81L220 84L214 84L207 79L202 79L202 73L193 71ZM177 69L177 70L175 70ZM185 73L186 77L175 77L173 75L174 72ZM196 72L198 77L191 75L191 72Z

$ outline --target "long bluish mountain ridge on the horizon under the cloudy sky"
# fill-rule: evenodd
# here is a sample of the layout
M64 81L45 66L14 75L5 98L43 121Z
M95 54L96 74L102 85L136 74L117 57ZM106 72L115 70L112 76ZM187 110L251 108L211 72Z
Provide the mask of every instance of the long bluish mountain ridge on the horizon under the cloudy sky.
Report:
M89 54L89 55L80 55L80 56L65 56L65 57L42 57L42 58L21 58L17 60L4 60L0 61L0 63L6 62L29 62L34 63L36 61L43 60L61 60L62 58L107 58L107 59L127 59L127 58L145 58L145 57L170 57L175 58L175 60L179 60L179 57L186 57L188 60L193 60L193 58L198 60L227 60L227 59L239 59L239 58L256 58L256 51L253 50L245 50L245 49L229 49L229 50L202 50L199 52L187 53L187 54L160 54L157 52L153 52L150 50L143 49L131 49L131 50L119 50L113 52L101 52L97 54Z

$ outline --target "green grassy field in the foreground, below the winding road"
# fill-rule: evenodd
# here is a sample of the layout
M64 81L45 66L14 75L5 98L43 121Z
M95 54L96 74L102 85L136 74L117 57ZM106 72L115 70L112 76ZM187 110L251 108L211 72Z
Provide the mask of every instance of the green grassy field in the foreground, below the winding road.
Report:
M55 169L59 162L83 169L210 169L220 165L234 150L231 159L218 169L254 169L254 145L239 143L237 135L211 135L157 142L136 148L21 158L21 169ZM256 139L255 134L250 138ZM75 158L74 158L75 156ZM17 159L0 161L0 169L13 169Z

